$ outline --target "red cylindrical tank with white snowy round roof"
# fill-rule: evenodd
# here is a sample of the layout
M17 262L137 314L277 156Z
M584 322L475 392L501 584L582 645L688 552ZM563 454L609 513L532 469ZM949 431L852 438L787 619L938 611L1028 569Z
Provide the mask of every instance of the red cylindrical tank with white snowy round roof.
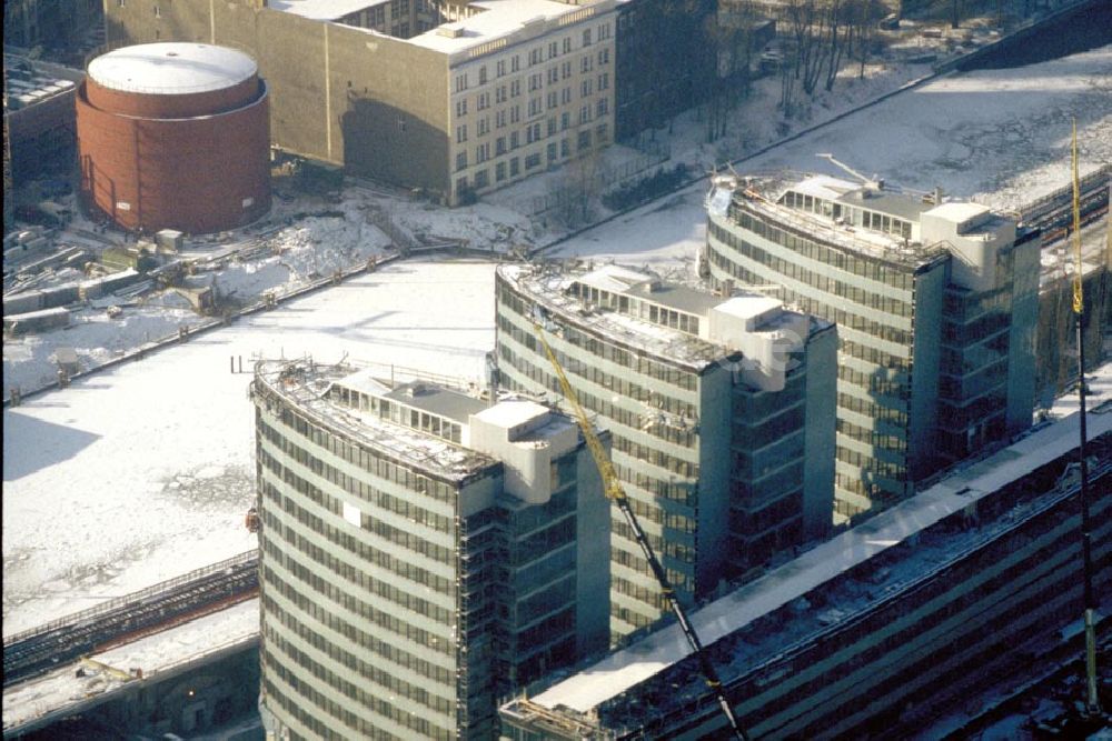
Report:
M77 97L87 201L119 226L221 231L270 208L269 99L255 61L201 43L98 57Z

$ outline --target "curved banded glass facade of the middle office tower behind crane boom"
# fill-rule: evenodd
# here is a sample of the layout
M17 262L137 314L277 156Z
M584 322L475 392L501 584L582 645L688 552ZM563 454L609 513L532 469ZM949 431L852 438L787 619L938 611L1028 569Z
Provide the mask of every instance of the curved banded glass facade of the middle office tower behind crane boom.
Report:
M496 292L502 382L512 390L560 398L533 324L538 297L502 271ZM652 324L676 330L677 337L697 336L705 321L576 281L562 296L574 306L636 318L649 333L656 331L647 327ZM615 469L681 600L709 593L718 578L753 573L774 553L802 542L805 368L791 370L786 388L777 392L754 391L727 379L727 403L708 409L707 374L718 366L676 362L618 337L584 318L563 321L548 341L579 403L610 431ZM716 429L723 433L708 440L709 414L721 418ZM708 469L717 474L708 477ZM701 518L709 511L728 522L721 548L708 549L706 539L701 543ZM610 528L610 632L612 641L619 642L655 624L667 604L616 508ZM717 577L712 581L706 573Z

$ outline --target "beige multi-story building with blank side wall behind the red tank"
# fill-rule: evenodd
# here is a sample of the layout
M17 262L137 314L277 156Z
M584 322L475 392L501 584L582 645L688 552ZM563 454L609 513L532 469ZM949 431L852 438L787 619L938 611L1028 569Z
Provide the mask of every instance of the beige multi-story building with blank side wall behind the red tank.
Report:
M248 51L277 149L458 204L612 142L615 19L615 0L127 0L108 44Z

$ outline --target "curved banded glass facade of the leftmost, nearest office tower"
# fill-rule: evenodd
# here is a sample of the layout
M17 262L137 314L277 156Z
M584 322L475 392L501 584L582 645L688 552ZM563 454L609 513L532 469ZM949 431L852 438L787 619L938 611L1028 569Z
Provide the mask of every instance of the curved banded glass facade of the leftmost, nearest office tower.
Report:
M262 697L288 738L488 738L500 697L576 660L577 450L530 505L493 459L444 475L277 377L252 395ZM459 435L395 400L331 397L314 402ZM489 504L465 515L475 497Z

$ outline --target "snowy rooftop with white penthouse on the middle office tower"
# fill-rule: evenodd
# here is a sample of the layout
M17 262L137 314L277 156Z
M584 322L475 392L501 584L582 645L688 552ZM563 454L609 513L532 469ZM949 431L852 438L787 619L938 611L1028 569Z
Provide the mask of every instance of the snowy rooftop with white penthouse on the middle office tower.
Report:
M552 314L696 372L737 363L744 381L764 391L784 388L794 367L787 356L802 350L811 331L806 314L761 293L716 294L615 264L566 271L506 266L499 272Z

